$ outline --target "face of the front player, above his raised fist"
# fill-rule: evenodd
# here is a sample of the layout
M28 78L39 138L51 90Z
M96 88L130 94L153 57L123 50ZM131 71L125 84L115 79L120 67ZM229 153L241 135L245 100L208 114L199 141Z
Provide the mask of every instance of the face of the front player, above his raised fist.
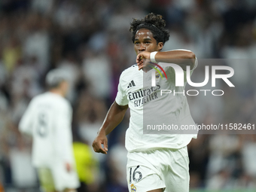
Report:
M163 43L157 44L157 40L153 37L153 34L148 29L139 29L136 32L134 38L134 50L136 54L142 53L143 51L153 52L163 48Z

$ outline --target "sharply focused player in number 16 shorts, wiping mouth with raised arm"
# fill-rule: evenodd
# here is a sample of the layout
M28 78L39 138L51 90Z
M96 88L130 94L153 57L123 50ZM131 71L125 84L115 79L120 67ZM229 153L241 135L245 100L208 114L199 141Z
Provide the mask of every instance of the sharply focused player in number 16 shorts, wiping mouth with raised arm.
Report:
M160 96L160 87L175 89L175 78L173 78L175 73L172 67L163 66L167 76L170 77L168 80L159 78L157 87L143 90L143 76L146 75L145 66L148 63L145 59L159 62L159 66L161 62L175 63L183 70L186 66L190 66L190 75L197 67L196 56L189 50L161 52L163 44L169 40L169 31L165 29L165 25L162 16L156 14L148 14L144 19L133 20L131 23L130 31L133 33L137 65L124 70L120 75L116 99L93 142L94 151L107 154L106 135L123 120L127 108L130 108L130 126L126 130L128 151L126 180L130 192L189 191L187 144L193 137L197 138L197 134L143 134L145 104L154 106L154 111L163 111L164 108L164 113L160 115L163 119L173 120L172 123L195 124L190 115L186 96L183 94ZM184 75L186 77L185 72ZM184 87L180 89L184 90ZM154 111L148 114L152 120L156 115Z

